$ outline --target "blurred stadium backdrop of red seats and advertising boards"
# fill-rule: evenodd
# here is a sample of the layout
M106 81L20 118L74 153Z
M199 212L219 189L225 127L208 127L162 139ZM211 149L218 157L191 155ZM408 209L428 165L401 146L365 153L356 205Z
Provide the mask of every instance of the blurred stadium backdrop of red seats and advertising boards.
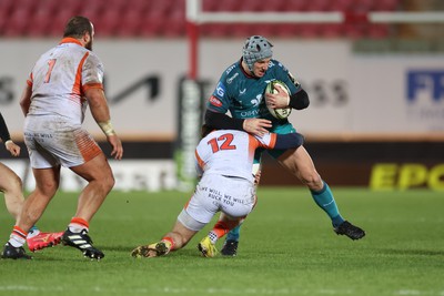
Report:
M0 110L22 155L0 151L32 188L19 96L33 63L56 45L65 22L93 22L93 51L105 67L113 124L124 161L110 160L120 190L190 190L192 151L204 103L245 38L262 34L309 92L290 121L306 137L331 185L444 191L444 14L379 21L374 12L444 13L438 0L202 0L203 12L256 12L253 22L186 20L185 0L0 0ZM260 13L339 12L305 22L263 21ZM330 14L325 14L330 16ZM108 153L88 114L85 126ZM62 175L62 188L81 180ZM301 184L264 157L262 184Z

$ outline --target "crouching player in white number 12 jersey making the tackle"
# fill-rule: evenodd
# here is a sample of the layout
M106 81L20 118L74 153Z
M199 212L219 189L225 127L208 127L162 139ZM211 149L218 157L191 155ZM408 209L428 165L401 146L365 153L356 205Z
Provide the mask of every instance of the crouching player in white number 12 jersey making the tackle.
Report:
M186 245L218 212L224 213L213 231L198 245L205 257L218 253L215 243L252 211L255 186L252 175L256 149L297 149L303 143L299 133L266 133L253 136L234 130L212 131L204 125L203 139L195 149L195 164L201 180L191 200L178 216L173 229L160 242L142 245L133 257L167 255Z

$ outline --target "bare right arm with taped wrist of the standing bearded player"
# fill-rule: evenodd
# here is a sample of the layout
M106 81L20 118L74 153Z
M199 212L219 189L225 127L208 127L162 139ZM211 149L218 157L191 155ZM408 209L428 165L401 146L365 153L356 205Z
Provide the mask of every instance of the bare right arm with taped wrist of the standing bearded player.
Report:
M112 127L110 109L103 90L101 88L85 88L84 95L88 99L92 116L107 135L107 141L111 144L111 155L115 160L121 160L123 156L122 142Z

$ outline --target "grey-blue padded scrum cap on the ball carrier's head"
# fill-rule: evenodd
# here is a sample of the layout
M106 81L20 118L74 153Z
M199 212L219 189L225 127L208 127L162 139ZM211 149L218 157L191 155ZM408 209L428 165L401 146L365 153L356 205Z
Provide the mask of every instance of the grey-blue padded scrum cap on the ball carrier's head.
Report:
M249 70L254 73L254 63L271 59L273 44L262 35L252 35L245 40L242 49L242 58Z

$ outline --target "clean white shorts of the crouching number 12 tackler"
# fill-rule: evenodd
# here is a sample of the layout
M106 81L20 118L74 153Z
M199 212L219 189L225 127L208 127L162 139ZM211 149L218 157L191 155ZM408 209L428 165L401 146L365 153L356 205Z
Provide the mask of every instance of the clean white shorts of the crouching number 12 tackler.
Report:
M204 174L184 207L184 212L199 223L190 225L183 214L179 215L179 221L190 229L200 231L218 212L231 217L244 217L254 204L255 190L249 180Z

